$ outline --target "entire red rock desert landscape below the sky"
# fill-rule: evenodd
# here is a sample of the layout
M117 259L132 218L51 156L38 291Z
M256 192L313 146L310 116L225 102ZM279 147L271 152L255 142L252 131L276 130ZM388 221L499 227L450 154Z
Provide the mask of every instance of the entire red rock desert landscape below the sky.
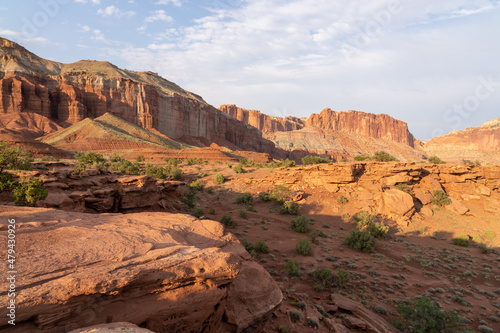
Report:
M500 118L217 108L4 38L0 82L2 332L500 332Z

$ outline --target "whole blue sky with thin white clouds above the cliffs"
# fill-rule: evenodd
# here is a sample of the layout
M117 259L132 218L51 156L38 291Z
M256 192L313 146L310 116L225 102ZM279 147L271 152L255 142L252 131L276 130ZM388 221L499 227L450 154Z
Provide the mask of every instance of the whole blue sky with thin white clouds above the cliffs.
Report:
M0 36L216 107L385 113L421 140L500 117L500 0L3 0Z

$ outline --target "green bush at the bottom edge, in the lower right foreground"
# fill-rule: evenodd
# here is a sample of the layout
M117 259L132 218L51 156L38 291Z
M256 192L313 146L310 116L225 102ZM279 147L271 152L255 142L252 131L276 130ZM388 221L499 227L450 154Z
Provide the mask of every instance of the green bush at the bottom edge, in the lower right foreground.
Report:
M412 305L399 305L400 320L394 321L396 328L412 333L459 333L472 332L463 327L464 320L455 312L444 311L427 296Z

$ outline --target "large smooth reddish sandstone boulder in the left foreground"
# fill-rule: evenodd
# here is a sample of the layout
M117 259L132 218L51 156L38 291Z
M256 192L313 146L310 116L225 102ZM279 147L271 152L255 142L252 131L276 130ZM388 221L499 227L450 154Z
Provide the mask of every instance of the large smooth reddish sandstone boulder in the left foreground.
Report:
M282 300L267 271L215 221L6 206L0 217L3 242L15 217L16 251L26 254L16 261L16 325L2 332L124 321L157 333L254 332Z

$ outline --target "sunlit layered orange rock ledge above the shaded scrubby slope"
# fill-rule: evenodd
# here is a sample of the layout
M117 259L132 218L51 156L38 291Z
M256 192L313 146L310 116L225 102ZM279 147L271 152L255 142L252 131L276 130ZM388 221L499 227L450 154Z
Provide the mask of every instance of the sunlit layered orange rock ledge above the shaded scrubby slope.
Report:
M451 198L445 208L467 214L467 201L500 192L500 166L425 165L416 163L335 163L281 169L264 180L268 186L283 185L291 189L322 188L342 196L370 211L404 223L432 205L434 191L444 191ZM326 194L328 195L328 194ZM497 199L484 203L484 209L496 211Z

